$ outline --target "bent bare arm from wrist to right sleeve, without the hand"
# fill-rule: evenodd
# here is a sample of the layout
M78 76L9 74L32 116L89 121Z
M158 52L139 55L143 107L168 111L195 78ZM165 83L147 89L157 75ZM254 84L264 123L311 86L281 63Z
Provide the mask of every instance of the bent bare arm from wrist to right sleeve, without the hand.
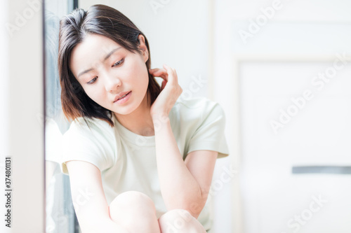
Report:
M198 150L190 153L183 161L169 118L154 122L157 122L157 170L166 207L168 211L185 209L197 218L206 204L218 153Z

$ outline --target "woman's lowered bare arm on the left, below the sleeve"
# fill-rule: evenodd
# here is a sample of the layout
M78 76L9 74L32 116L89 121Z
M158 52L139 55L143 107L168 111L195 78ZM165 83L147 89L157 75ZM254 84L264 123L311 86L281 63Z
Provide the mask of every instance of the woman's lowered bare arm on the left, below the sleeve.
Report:
M98 167L89 162L77 160L71 160L66 164L72 202L81 231L83 233L128 233L110 218Z

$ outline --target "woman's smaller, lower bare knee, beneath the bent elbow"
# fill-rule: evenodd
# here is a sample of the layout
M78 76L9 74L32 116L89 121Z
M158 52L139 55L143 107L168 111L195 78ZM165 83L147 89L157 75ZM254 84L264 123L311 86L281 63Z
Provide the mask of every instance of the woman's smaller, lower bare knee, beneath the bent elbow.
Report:
M159 218L161 233L206 233L201 223L185 209L173 209Z

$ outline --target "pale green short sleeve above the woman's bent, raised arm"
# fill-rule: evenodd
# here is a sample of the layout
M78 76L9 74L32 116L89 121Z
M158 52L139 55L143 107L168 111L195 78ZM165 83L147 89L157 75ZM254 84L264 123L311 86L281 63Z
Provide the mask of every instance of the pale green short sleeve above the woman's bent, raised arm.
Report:
M200 115L187 153L194 150L213 150L218 152L218 158L229 155L224 133L225 113L222 106L216 102L207 101Z

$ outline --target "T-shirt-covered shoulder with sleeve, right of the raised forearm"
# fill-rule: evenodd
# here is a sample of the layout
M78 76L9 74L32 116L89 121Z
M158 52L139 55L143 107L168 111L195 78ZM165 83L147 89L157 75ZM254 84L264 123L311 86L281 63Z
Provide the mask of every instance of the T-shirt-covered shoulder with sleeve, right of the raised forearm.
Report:
M174 132L185 142L183 160L194 150L218 151L218 157L229 155L225 141L225 112L216 101L206 97L180 99L173 113Z

